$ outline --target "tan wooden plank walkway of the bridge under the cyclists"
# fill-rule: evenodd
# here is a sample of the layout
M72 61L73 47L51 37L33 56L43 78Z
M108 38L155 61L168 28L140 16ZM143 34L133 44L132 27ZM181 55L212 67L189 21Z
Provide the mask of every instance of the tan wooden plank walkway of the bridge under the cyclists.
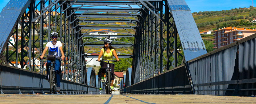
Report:
M90 104L184 104L184 103L256 103L255 97L220 95L0 95L1 104L22 103L90 103Z

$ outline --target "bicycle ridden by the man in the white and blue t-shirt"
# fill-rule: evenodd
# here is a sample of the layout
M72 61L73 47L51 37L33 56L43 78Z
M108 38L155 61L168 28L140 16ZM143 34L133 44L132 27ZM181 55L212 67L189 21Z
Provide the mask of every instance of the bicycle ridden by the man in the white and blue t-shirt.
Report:
M43 57L43 59L47 59L46 57ZM49 79L49 83L50 83L50 94L56 94L56 77L55 77L55 71L54 71L54 61L56 59L61 59L61 58L52 58L51 61L51 65L49 66L49 74L48 74L48 79ZM47 59L48 60L48 59Z

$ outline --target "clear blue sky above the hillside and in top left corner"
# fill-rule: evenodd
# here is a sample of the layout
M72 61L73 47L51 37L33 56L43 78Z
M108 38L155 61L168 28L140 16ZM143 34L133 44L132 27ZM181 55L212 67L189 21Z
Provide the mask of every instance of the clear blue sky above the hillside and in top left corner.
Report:
M2 8L10 0L0 0L0 12ZM224 1L224 2L223 2ZM249 8L252 5L252 0L185 0L191 12L199 11L220 11L220 10L230 10L234 8ZM254 7L256 7L256 0L254 0Z

